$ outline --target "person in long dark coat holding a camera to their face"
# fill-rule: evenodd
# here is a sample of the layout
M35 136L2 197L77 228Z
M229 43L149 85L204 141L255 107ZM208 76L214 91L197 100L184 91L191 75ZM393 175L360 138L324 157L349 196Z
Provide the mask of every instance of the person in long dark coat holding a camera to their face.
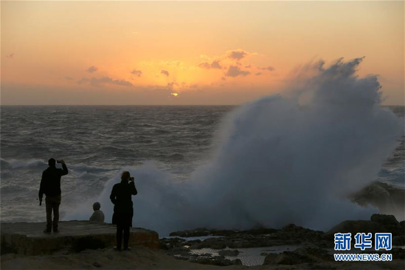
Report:
M128 249L130 239L130 227L132 227L132 217L134 208L132 206L132 195L137 195L135 179L130 173L125 171L121 174L121 182L112 187L110 200L114 204L114 214L112 224L117 225L117 250L121 250L121 240L124 230L124 250Z

